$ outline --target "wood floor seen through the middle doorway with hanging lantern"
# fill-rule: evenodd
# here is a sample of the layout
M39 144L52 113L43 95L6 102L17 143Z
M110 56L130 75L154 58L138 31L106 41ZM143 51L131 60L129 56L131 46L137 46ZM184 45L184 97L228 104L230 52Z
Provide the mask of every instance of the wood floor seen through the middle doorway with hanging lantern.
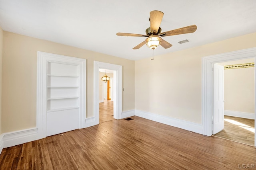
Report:
M113 101L104 100L100 103L100 123L114 120Z

